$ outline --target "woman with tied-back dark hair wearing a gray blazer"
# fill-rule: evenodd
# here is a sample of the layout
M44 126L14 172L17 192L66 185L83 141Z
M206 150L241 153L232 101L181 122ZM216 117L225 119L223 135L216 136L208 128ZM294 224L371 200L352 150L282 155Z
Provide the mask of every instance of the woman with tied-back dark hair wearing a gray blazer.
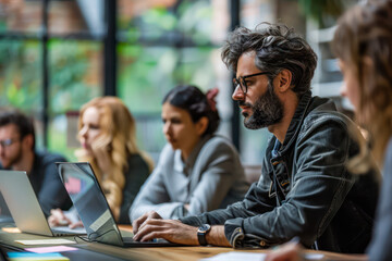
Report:
M131 210L131 221L149 211L163 219L199 214L241 200L248 184L231 142L215 135L219 114L215 96L195 86L177 86L162 102L168 145L143 185Z

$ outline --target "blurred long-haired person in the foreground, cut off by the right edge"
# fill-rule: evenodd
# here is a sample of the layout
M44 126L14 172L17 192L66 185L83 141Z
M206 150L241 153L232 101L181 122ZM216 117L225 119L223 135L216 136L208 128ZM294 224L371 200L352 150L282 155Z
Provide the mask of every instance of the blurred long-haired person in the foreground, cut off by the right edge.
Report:
M348 10L338 22L332 49L343 73L341 94L354 105L357 121L369 132L369 146L352 167L371 165L371 148L382 169L382 188L375 231L367 249L371 261L392 260L392 1L373 0ZM358 164L358 163L362 164ZM358 227L360 228L360 227ZM289 244L269 254L269 261L302 260L303 248ZM364 260L367 258L364 258Z

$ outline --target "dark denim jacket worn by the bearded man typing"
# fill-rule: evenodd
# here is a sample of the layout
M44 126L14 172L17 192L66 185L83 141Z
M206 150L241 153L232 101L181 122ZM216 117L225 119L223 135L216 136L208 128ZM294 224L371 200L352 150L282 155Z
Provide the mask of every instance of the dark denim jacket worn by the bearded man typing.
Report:
M305 94L283 145L275 137L269 141L260 179L245 199L181 221L224 224L233 247L269 247L298 236L306 247L364 252L371 236L378 174L347 172L347 160L358 152L350 127L352 122L332 101Z

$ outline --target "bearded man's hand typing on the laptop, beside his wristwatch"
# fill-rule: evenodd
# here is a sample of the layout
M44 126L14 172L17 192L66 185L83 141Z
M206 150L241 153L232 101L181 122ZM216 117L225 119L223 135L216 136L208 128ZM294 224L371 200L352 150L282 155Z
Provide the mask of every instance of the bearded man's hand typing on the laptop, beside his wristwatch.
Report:
M137 222L137 220L135 222ZM152 240L154 238L164 238L171 243L199 245L197 239L197 227L185 225L177 220L148 217L145 219L138 228L136 228L136 232L137 233L134 235L134 239L137 241L148 241Z

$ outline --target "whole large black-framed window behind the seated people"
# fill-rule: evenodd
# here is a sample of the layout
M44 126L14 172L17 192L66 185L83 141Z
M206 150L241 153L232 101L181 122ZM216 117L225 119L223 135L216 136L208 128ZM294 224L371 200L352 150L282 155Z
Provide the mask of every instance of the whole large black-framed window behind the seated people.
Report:
M307 33L315 20L308 17L315 10L322 16L331 2L0 1L0 105L35 116L38 147L75 160L75 112L94 97L119 96L137 120L142 149L157 159L166 142L160 120L164 94L179 84L205 91L218 87L219 133L232 138L244 162L260 164L270 134L243 127L231 100L233 72L222 63L220 48L235 26L254 28L260 22L285 23L311 40ZM334 24L330 16L324 20ZM320 53L323 44L315 46ZM329 59L321 59L319 82L331 78L321 71L331 64Z

